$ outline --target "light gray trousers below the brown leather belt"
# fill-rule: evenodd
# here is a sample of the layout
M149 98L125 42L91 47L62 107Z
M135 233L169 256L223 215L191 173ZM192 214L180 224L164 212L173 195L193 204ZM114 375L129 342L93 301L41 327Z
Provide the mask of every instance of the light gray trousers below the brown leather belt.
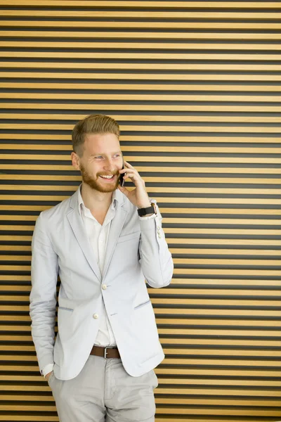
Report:
M60 422L154 422L155 371L129 376L121 359L90 355L79 375L48 378Z

